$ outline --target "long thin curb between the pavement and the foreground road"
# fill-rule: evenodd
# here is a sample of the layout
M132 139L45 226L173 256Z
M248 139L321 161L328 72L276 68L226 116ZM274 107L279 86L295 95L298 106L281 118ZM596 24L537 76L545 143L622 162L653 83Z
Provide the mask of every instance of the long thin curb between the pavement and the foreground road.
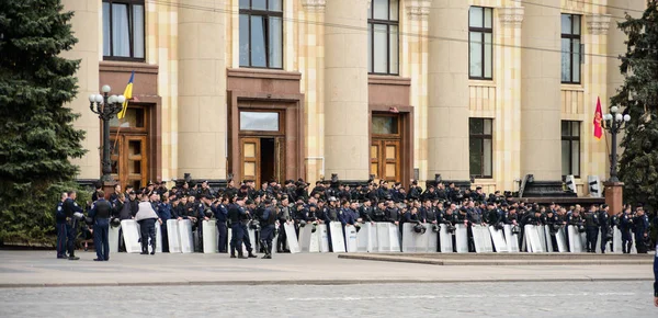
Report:
M48 288L48 287L152 287L152 286L263 286L263 285L371 285L371 284L473 284L473 283L572 283L572 282L653 282L653 277L574 277L574 279L484 279L484 280L283 280L283 281L190 281L190 282L144 282L144 283L54 283L54 284L0 284L5 288Z

